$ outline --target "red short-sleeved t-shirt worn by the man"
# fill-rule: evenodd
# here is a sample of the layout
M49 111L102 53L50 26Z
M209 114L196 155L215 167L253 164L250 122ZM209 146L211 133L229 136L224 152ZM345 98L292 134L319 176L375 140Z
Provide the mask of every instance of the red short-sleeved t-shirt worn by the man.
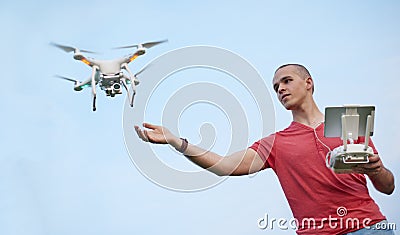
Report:
M343 141L325 138L323 133L323 124L314 131L292 122L250 146L265 162L264 168L272 168L278 176L298 222L297 233L341 234L384 220L364 175L336 174L326 166L329 150L322 143L333 150ZM372 141L369 145L377 153Z

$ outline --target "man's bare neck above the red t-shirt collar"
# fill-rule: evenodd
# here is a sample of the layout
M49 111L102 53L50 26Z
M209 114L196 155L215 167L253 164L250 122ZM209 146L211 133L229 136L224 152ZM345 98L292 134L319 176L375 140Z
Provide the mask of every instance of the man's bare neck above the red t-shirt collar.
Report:
M316 128L324 121L324 114L318 109L314 100L292 110L293 121Z

